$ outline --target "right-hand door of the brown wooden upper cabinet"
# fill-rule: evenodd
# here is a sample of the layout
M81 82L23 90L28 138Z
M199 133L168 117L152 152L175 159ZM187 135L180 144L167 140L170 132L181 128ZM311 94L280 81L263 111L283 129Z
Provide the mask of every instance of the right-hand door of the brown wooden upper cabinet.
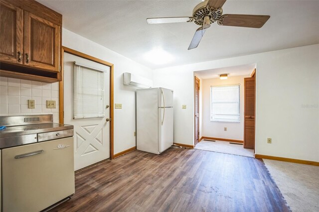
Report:
M60 26L24 11L23 64L59 72Z

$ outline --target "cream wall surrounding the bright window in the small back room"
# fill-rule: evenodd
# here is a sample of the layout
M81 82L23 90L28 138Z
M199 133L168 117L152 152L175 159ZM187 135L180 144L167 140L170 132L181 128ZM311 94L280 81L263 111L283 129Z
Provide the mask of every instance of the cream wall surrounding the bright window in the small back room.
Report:
M228 77L227 80L219 78L203 80L203 136L244 140L244 78L250 76ZM240 122L210 121L210 87L221 85L240 84ZM224 131L227 127L227 131Z

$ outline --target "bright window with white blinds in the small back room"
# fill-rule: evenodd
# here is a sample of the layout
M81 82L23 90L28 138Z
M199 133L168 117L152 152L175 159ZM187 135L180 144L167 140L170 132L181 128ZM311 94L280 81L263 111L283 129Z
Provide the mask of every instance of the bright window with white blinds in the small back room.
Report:
M239 85L210 87L210 121L240 122Z

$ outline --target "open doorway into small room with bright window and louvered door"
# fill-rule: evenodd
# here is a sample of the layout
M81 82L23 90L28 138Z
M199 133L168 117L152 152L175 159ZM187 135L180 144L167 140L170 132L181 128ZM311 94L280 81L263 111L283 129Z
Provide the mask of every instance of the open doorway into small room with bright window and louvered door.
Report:
M202 94L198 102L202 107L199 126L195 113L194 130L201 129L198 143L194 139L195 149L254 157L255 67L247 64L194 73L201 79ZM227 79L219 76L224 73ZM194 102L197 111L196 92Z

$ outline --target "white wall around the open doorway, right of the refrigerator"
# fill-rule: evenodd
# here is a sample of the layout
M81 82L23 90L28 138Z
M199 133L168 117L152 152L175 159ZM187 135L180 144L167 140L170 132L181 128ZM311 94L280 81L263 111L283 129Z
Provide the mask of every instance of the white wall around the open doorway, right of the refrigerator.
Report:
M256 154L319 161L319 44L154 70L174 90L174 141L193 145L193 72L252 63Z

